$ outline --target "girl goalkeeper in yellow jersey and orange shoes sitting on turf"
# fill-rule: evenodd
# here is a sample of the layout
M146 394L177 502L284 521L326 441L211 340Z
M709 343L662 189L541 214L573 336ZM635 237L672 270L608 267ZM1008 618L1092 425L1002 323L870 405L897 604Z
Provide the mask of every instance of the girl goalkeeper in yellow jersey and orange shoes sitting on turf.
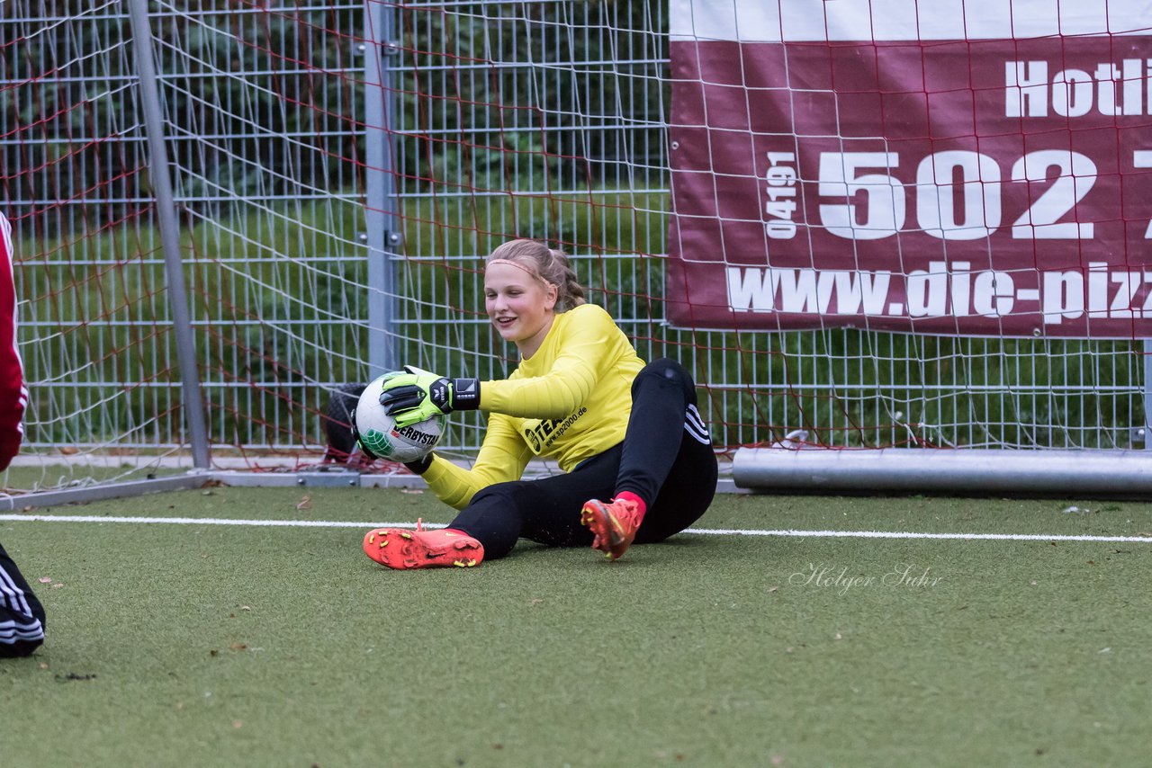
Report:
M564 253L543 243L493 251L484 292L497 333L520 350L511 375L448 379L406 367L380 396L397 426L488 412L471 470L434 454L408 465L461 511L446 530L369 531L369 557L400 569L469 567L524 538L591 546L614 561L698 519L715 493L717 459L691 375L670 359L645 365L608 313L585 303ZM533 456L564 473L522 480Z

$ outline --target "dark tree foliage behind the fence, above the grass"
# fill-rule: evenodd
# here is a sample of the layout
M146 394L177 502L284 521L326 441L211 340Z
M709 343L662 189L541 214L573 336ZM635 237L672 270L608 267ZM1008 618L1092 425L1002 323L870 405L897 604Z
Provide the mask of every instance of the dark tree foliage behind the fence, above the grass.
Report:
M362 183L373 52L363 3L175 6L153 6L151 28L179 197ZM619 182L623 161L662 165L661 2L389 13L386 134L400 190L579 189ZM146 199L149 167L127 3L12 0L0 14L6 196L39 200L53 229L79 223L52 203L77 196L92 201L89 226L121 220Z

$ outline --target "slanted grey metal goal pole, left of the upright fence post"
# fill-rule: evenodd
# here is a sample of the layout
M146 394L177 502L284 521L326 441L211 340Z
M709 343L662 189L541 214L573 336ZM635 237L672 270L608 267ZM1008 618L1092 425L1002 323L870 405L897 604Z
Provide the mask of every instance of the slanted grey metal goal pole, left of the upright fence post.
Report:
M176 220L168 151L165 146L164 121L160 111L160 90L157 83L152 26L149 23L147 0L129 0L132 41L136 47L136 70L139 75L141 106L144 111L144 130L151 155L152 192L156 215L164 248L165 274L168 281L168 306L172 310L173 333L184 400L184 417L192 447L192 465L209 469L209 439L204 419L204 400L200 394L199 368L196 365L196 342L192 337L191 314L188 309L188 289L184 284L183 259L180 254L180 227Z

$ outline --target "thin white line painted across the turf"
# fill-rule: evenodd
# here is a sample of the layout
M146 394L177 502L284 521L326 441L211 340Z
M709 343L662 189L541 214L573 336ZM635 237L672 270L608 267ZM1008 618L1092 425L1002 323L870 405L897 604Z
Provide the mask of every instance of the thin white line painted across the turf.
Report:
M245 520L221 517L105 517L100 515L0 515L0 522L33 523L137 523L168 525L241 525L300 529L415 529L415 523L356 523L350 520ZM427 523L425 527L447 527ZM797 531L794 529L688 529L699 535L793 537L811 539L942 539L949 541L1101 541L1152 543L1152 537L1066 535L1041 533L917 533L914 531Z

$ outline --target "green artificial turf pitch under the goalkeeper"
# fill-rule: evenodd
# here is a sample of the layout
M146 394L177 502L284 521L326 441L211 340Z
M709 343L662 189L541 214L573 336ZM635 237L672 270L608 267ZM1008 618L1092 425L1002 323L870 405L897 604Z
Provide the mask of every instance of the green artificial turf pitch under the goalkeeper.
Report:
M400 491L212 488L50 514L450 510ZM699 526L1138 535L1152 504L725 495ZM48 611L46 645L0 664L21 742L6 765L1146 761L1152 539L685 534L615 564L522 542L467 572L392 572L362 534L0 522ZM939 581L884 583L904 565ZM813 567L874 583L805 584Z

